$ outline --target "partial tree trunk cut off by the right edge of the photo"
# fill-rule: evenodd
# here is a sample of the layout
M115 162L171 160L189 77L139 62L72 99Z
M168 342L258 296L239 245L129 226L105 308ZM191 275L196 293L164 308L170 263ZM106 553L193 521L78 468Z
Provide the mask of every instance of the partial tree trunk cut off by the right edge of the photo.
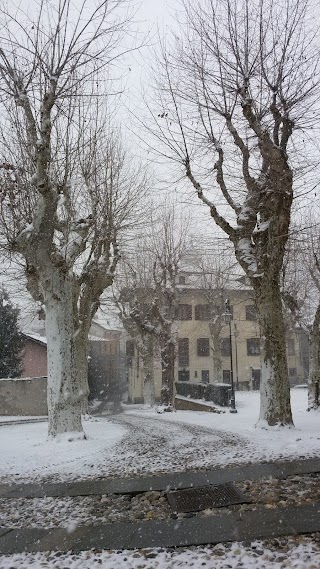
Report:
M320 408L320 304L309 334L308 411Z

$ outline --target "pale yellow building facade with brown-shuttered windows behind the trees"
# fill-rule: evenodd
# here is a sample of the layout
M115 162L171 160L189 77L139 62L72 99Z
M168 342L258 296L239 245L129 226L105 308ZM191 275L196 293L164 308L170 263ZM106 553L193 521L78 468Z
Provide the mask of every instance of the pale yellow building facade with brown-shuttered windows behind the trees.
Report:
M216 311L212 311L210 306L212 300L208 301L207 291L184 287L183 282L181 283L176 337L177 381L230 383L231 344L235 388L259 389L263 354L253 293L249 289L239 289L230 290L227 294L231 312L230 325L224 322L223 304L217 306ZM213 313L216 315L214 326ZM308 358L305 354L305 338L301 331L288 334L286 349L291 385L304 383L308 373L306 369ZM148 370L143 369L137 347L129 337L126 339L126 368L129 400L136 403L143 402L144 378ZM159 399L161 389L159 357L154 358L152 375L156 399Z

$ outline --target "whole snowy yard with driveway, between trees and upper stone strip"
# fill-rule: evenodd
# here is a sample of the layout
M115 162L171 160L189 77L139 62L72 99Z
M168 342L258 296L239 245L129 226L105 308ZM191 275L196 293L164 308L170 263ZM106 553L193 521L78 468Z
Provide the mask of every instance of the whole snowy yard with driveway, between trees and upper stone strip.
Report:
M237 393L238 413L126 406L125 413L85 421L86 441L47 441L46 422L0 427L0 480L68 480L214 468L320 454L320 413L307 392L292 389L295 428L255 428L259 394ZM167 448L165 446L167 445Z

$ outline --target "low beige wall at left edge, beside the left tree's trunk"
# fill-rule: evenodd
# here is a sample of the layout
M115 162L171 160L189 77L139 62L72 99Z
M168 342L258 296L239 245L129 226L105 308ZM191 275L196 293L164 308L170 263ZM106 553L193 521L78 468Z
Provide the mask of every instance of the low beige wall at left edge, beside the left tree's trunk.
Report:
M0 379L0 415L47 415L47 378Z

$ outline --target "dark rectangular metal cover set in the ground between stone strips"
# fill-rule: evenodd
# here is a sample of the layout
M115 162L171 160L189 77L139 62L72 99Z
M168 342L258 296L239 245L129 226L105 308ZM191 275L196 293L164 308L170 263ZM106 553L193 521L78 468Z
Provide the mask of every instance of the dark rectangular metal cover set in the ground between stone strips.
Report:
M207 508L222 508L248 502L248 499L230 483L174 490L167 493L167 498L172 511L176 513L197 512Z

